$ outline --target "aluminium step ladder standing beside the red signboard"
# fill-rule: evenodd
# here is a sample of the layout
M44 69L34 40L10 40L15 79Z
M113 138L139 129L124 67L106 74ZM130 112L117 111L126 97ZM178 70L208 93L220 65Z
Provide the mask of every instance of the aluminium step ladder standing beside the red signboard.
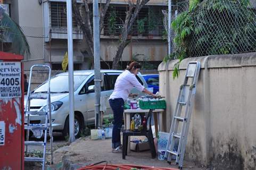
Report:
M38 93L34 94L30 91L31 86L31 77L34 67L41 67L43 69L47 69L48 71L48 86L47 86L47 92L44 93ZM35 71L35 70L34 70ZM53 135L52 135L52 118L51 118L51 93L50 93L50 78L51 78L51 67L48 65L32 65L30 68L30 75L29 75L29 83L28 83L28 94L27 94L27 101L24 109L25 117L25 125L24 129L27 131L25 146L26 150L25 152L28 153L28 146L42 146L43 147L43 157L25 157L25 162L42 162L43 166L42 169L45 169L45 163L46 163L46 154L51 154L51 163L53 164L53 152L52 152L52 142L53 142ZM32 99L46 99L46 111L30 111L30 100ZM43 115L45 116L45 122L42 124L30 124L30 115ZM27 121L26 121L27 120ZM29 132L30 131L37 131L42 136L42 133L44 132L44 141L29 141ZM51 151L49 153L46 153L46 144L47 144L47 134L50 136L50 145L51 145Z

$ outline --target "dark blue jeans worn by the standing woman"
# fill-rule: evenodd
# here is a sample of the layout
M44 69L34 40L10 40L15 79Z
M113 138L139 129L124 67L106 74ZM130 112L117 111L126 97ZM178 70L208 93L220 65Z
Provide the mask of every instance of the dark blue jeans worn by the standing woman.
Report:
M123 101L122 98L109 99L109 104L114 114L112 148L117 148L121 145L120 132L122 127L123 105L125 105L125 101Z

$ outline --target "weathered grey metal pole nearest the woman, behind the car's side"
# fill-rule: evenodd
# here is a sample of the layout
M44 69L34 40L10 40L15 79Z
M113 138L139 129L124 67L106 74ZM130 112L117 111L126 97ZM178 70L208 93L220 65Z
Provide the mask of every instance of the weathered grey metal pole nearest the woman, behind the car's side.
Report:
M100 17L98 15L98 0L93 0L93 50L94 50L94 82L95 82L95 129L100 118L101 97L101 63L100 63Z

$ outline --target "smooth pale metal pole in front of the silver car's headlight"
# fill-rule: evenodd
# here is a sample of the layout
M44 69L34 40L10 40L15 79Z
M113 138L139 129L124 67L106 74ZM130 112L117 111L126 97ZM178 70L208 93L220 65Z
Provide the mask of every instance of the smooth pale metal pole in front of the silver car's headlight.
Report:
M72 38L72 0L67 0L68 56L69 56L69 142L75 141L74 131L74 78L73 78L73 38Z

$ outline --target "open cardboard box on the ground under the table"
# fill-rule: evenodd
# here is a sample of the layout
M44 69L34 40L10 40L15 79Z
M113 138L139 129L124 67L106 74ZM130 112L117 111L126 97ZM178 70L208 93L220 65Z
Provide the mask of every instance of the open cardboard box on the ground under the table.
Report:
M136 152L150 150L150 145L149 145L148 141L146 141L146 142L144 141L145 139L146 139L146 137L131 137L130 149L133 151L136 151ZM135 140L141 140L144 142L139 142L139 143L132 142Z

